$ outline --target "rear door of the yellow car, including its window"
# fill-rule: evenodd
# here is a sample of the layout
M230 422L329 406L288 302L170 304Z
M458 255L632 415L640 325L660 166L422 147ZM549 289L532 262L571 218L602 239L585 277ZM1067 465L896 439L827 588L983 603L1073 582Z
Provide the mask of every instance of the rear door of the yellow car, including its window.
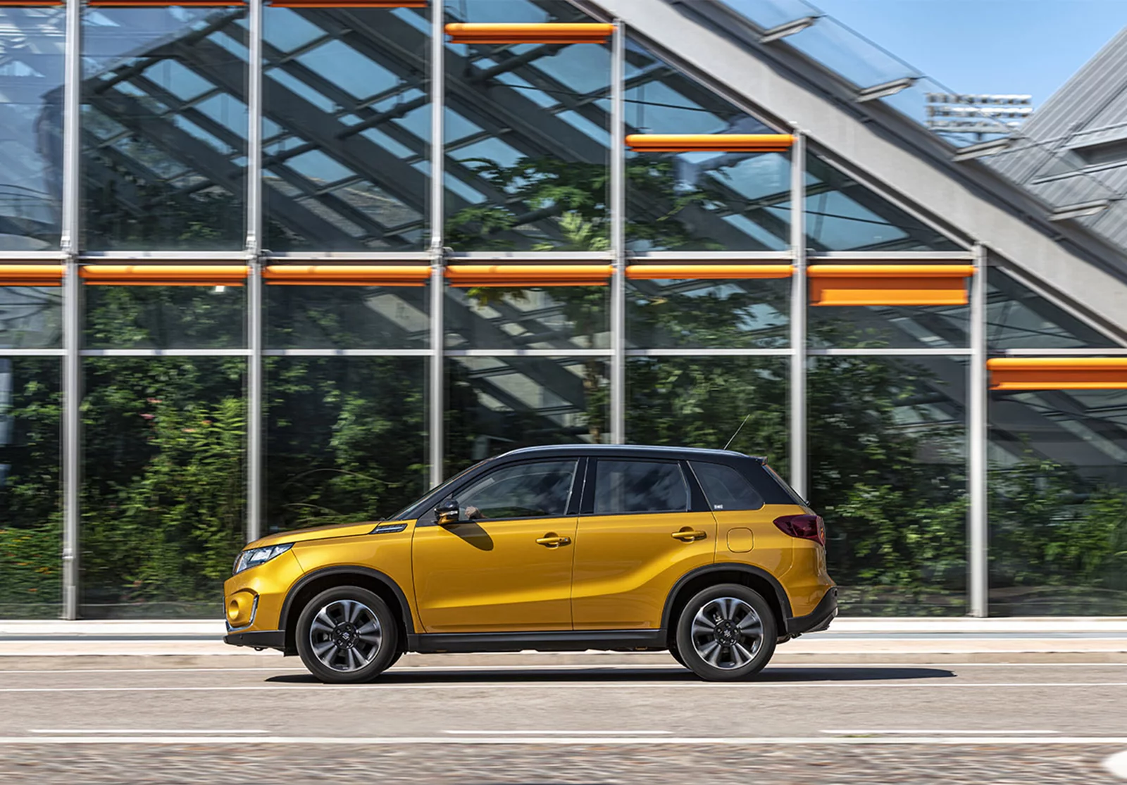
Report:
M716 519L681 461L589 463L575 542L575 628L657 628L673 583L712 563Z

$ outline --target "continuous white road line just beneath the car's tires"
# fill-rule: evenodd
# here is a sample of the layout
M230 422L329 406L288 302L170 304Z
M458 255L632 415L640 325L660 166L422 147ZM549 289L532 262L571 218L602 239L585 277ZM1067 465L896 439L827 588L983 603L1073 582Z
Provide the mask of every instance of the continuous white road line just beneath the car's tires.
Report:
M858 681L746 681L743 684L716 684L708 681L622 681L614 687L654 689L964 689L977 687L1127 687L1127 681L948 681L938 684L870 684ZM308 684L308 685L201 685L197 687L0 687L0 693L234 693L345 689L345 690L400 690L400 689L606 689L597 681L474 681L472 684Z

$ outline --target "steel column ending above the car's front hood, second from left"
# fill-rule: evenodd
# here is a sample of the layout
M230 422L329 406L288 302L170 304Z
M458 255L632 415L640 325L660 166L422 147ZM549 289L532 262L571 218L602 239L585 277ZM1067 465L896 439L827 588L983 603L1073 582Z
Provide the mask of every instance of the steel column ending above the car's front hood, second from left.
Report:
M247 542L263 533L263 0L247 10Z

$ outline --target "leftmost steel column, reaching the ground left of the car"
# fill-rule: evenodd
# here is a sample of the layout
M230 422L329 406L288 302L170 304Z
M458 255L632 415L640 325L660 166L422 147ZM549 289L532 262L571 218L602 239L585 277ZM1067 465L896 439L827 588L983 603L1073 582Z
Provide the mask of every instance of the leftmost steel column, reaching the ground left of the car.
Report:
M79 207L81 204L81 116L82 86L81 44L82 6L66 0L66 42L63 61L63 204L61 247L66 259L63 277L63 618L78 618L79 582L79 489L81 478L82 368L79 359L81 341L79 323L78 251Z

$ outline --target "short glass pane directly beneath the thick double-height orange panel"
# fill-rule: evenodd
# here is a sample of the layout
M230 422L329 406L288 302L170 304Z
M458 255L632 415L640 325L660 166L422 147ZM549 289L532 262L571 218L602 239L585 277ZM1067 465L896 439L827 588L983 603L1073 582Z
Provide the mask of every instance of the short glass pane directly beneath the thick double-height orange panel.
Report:
M813 306L807 313L811 347L965 348L968 305Z

